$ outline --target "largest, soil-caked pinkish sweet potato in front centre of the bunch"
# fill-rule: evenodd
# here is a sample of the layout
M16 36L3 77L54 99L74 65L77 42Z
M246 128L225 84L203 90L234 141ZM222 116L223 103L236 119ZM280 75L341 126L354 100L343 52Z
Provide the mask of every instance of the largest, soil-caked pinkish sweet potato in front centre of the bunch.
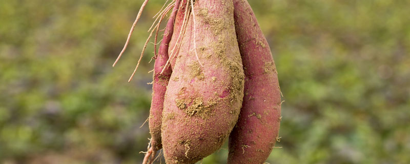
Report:
M167 163L195 163L212 154L236 124L244 74L233 10L232 0L194 4L162 111Z

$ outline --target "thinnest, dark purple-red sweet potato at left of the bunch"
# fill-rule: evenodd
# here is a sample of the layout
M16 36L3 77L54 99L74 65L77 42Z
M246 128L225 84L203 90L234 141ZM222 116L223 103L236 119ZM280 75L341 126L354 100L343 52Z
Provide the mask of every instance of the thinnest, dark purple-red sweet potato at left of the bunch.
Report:
M149 117L149 127L151 133L151 146L153 151L157 151L162 148L161 142L161 122L162 122L162 110L163 100L165 92L167 91L167 85L170 80L172 70L170 67L166 68L162 74L161 71L166 65L168 60L168 45L171 41L174 32L174 19L178 11L180 0L175 2L175 6L172 10L171 16L168 19L167 26L162 38L162 42L159 46L158 54L155 56L153 84L152 84L152 101Z

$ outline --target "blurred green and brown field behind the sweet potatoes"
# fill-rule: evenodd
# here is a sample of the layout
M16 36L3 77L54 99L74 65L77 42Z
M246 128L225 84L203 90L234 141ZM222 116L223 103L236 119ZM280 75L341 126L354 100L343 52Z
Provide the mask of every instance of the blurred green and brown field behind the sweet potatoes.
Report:
M164 1L0 1L0 163L140 163ZM410 1L250 1L285 103L270 163L410 162ZM225 163L227 145L203 163Z

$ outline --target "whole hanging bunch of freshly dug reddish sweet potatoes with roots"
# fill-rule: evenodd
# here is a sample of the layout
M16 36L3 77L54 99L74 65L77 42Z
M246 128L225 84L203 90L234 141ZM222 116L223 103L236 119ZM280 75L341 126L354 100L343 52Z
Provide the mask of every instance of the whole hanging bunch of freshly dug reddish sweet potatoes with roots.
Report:
M158 14L155 43L169 11L158 53L155 47L152 138L143 163L160 149L167 163L195 163L227 138L228 163L263 163L279 138L281 93L249 3L174 0Z

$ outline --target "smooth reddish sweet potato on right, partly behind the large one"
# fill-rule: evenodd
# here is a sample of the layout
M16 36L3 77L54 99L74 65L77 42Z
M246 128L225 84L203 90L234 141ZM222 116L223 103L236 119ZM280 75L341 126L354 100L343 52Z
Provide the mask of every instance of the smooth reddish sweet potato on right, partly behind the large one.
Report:
M245 74L238 122L230 134L228 163L263 163L280 126L281 94L269 44L246 0L233 0L235 29Z

